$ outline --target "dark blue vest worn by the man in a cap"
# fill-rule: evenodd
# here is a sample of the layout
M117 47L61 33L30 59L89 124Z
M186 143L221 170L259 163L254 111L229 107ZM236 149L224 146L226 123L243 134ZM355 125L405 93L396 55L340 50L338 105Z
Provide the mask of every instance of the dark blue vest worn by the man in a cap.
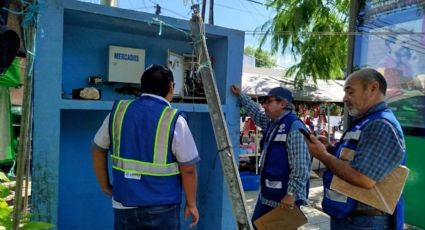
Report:
M270 130L272 127L267 127L266 135L261 140L264 147L262 157L265 157L261 160L264 161L261 168L261 196L272 203L280 202L288 189L290 167L286 139L295 120L300 119L293 113L283 116L277 128Z

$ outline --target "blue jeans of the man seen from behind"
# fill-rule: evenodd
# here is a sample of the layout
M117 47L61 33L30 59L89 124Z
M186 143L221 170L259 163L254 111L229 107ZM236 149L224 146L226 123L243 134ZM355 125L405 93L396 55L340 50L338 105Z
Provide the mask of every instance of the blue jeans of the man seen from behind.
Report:
M116 230L179 230L180 205L114 209L114 219Z

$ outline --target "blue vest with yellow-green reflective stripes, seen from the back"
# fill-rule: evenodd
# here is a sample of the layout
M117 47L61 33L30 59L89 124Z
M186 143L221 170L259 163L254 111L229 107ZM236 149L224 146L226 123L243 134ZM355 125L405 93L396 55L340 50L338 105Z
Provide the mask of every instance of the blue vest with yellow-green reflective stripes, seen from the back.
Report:
M109 133L116 201L124 206L181 202L180 171L171 151L178 116L176 109L151 96L115 102Z

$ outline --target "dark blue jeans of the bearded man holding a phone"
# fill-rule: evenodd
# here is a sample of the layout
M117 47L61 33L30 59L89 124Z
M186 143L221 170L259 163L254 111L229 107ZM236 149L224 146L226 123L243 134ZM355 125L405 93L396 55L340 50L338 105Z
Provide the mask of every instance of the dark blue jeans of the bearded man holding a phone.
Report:
M393 217L382 216L349 216L345 219L331 218L332 230L380 230L394 229Z

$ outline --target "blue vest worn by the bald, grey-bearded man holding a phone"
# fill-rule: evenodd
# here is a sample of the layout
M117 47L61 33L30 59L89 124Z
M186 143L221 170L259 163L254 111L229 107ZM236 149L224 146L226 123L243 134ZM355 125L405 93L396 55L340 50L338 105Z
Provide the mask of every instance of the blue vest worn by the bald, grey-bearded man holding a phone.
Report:
M403 131L401 129L400 124L396 120L392 111L386 108L381 111L377 111L372 114L369 114L368 116L356 121L351 126L351 128L349 128L343 134L343 136L341 137L341 141L335 147L335 151L333 152L333 154L339 158L344 148L348 148L352 151L355 151L361 136L361 131L364 129L364 127L366 127L366 124L376 119L387 120L393 126L393 128L397 131L397 135L400 141L403 141L404 136L403 136ZM403 157L402 164L404 165L406 160L405 150L403 155L404 157ZM322 207L323 207L323 210L331 217L337 218L337 219L344 219L350 216L354 212L358 201L330 189L333 175L334 174L330 170L326 170L325 173L323 174L324 197L322 201ZM404 200L402 196L399 202L397 203L397 206L393 215L395 217L394 220L395 220L396 229L403 229Z

